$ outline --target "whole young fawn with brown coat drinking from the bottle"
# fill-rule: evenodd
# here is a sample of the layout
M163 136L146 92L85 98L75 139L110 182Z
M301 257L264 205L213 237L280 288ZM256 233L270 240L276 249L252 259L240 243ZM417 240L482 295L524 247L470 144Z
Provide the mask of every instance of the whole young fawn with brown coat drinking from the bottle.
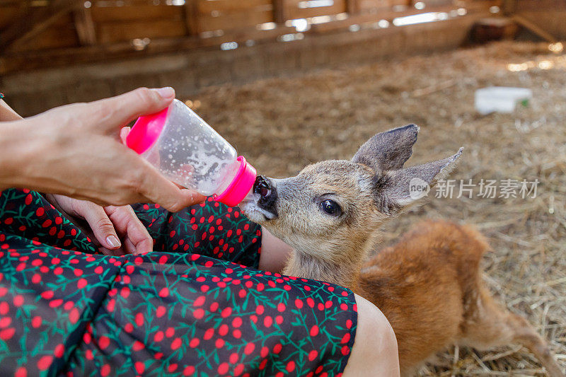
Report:
M461 155L403 168L418 131L410 124L376 134L352 161L322 161L296 177L259 176L241 209L294 249L284 274L347 286L381 309L397 337L402 376L451 344L518 342L549 376L563 377L536 330L490 296L480 271L489 247L473 228L427 221L366 261L378 228L423 196L410 185L434 185Z

